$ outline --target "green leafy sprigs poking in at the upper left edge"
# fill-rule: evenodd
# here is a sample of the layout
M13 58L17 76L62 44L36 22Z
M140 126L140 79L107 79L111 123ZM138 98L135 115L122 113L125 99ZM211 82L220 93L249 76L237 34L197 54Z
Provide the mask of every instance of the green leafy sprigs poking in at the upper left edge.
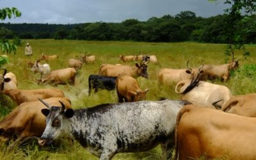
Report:
M20 11L13 7L13 8L2 8L0 9L0 19L4 20L6 18L11 19L13 17L20 17L21 13ZM8 42L6 39L1 39L0 40L0 47L2 49L2 52L7 52L11 53L14 52L16 53L17 47L15 44Z

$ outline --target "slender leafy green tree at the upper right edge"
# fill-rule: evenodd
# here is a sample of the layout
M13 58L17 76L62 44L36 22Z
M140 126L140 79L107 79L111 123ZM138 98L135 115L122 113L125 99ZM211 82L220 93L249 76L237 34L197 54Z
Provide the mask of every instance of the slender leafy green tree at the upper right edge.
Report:
M255 29L256 21L252 21L252 15L256 11L256 2L255 0L225 0L225 4L230 4L230 8L225 10L227 16L223 24L223 33L228 40L225 55L232 56L232 60L234 60L234 51L242 49L243 56L246 59L250 56L250 52L245 49L246 33ZM248 26L248 22L253 22L252 26Z

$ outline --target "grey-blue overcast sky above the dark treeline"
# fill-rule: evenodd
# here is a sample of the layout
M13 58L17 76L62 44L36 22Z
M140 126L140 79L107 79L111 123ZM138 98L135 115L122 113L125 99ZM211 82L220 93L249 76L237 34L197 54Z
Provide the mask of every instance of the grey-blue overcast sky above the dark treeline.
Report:
M223 1L207 0L0 0L0 8L4 7L17 7L22 16L3 22L49 24L145 21L187 10L196 16L211 17L223 14L227 8Z

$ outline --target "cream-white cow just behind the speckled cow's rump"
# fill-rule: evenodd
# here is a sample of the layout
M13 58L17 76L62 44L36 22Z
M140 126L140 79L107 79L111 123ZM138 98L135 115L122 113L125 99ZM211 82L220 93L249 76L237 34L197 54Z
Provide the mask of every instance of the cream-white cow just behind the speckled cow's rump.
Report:
M198 77L192 81L180 81L175 86L175 92L182 95L182 100L206 108L222 106L232 96L227 86L199 81Z

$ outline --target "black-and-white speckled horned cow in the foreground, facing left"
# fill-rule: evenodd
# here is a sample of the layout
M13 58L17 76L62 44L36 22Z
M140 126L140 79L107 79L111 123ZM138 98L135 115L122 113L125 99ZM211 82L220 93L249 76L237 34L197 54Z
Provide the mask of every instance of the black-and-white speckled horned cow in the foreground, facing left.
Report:
M172 143L176 115L186 102L181 100L101 104L88 109L49 107L42 109L47 126L38 143L51 144L68 136L100 159L118 152L145 151L159 143ZM47 104L45 104L47 106Z

